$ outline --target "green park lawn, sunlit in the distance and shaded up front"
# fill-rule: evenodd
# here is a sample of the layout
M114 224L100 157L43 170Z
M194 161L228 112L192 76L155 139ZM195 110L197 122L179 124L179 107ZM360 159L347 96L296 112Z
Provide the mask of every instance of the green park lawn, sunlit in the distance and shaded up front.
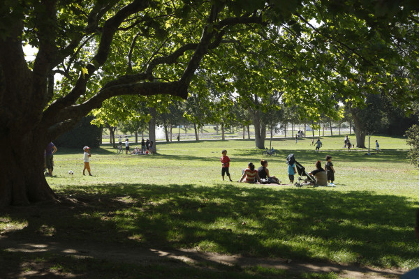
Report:
M272 146L278 156L267 158L268 168L283 183L288 183L285 158L289 153L308 170L315 169L316 160L324 165L325 156L332 156L337 186L319 188L222 181L222 149L228 150L234 181L240 179L247 163L259 165L261 151L253 148L252 140L159 142L159 154L152 156L117 154L116 149L103 146L92 150L93 177L82 176L81 148L59 149L54 156L56 177L48 177L48 183L61 197L89 206L52 212L36 209L38 213L9 209L0 218L0 233L24 238L36 232L45 239L89 239L103 246L193 248L228 255L411 269L419 266L419 245L413 232L419 208L419 170L406 160L404 139L374 136L372 142L375 140L382 148L380 153L365 156L365 150L343 149L343 136L321 138L319 153L311 139L297 144L275 139ZM269 141L265 144L269 146ZM68 266L77 261L61 259L71 262ZM189 268L173 267L172 277ZM159 273L159 266L151 271ZM193 272L200 278L220 277L218 271L205 271L206 277L203 271ZM223 270L221 278L234 278L231 274L265 278L275 272L232 267ZM308 274L305 278L335 275Z

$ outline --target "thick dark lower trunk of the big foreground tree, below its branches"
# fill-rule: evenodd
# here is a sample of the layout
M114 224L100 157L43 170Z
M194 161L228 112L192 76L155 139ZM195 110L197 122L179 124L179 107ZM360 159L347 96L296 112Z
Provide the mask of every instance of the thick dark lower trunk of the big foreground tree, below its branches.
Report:
M1 135L0 207L57 198L43 174L47 141L40 135L43 132L17 136L7 131Z

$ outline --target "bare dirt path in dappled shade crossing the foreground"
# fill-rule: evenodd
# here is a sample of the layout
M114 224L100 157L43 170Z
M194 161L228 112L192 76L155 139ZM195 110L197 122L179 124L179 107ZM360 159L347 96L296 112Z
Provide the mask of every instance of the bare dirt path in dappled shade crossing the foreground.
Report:
M136 264L173 264L186 263L191 266L203 263L228 266L263 266L287 270L290 273L330 273L335 272L339 278L355 279L389 279L399 278L404 273L399 269L375 269L368 266L350 266L319 262L298 262L288 259L272 259L262 257L242 257L240 255L220 255L212 252L199 252L191 249L161 250L135 248L133 246L110 245L103 243L63 242L63 241L30 241L24 239L10 239L0 236L0 248L10 252L42 253L52 252L58 255L72 255L73 257L93 257L110 261L128 262ZM171 259L171 260L168 260Z

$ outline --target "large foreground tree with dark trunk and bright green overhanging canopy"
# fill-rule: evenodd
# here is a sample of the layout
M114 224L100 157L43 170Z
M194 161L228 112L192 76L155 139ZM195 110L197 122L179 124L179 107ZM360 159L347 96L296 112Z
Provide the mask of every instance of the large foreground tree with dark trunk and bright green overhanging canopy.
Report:
M226 86L235 77L258 82L260 98L284 92L312 118L332 112L332 96L362 103L377 89L409 103L417 98L418 8L416 0L1 1L8 165L0 166L0 205L54 197L41 171L45 145L105 100L185 99L198 70ZM38 50L34 61L25 45Z

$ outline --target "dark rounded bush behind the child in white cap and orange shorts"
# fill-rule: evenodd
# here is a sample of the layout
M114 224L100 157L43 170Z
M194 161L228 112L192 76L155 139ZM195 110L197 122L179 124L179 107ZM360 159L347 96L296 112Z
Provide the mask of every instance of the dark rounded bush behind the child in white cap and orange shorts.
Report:
M101 145L102 128L91 125L94 116L85 116L82 120L67 133L54 140L59 147L82 148L83 146L98 147Z

